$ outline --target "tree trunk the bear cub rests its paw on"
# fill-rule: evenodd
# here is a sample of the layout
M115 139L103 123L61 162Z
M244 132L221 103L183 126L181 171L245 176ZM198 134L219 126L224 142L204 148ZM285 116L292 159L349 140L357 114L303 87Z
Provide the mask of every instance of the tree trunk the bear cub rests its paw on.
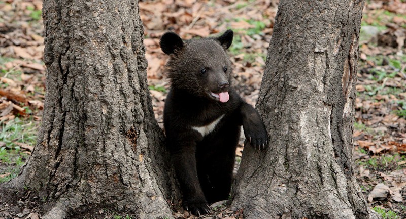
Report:
M352 161L363 6L280 1L257 103L269 148L244 149L234 187L245 218L375 217Z

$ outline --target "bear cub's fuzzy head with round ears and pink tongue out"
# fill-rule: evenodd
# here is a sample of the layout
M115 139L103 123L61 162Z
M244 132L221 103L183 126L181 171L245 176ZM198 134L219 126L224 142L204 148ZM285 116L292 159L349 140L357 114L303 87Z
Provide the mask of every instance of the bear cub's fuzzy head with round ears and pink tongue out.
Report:
M163 34L160 46L170 56L166 67L172 88L227 102L232 72L225 50L231 46L233 35L227 30L219 37L183 41L174 32Z

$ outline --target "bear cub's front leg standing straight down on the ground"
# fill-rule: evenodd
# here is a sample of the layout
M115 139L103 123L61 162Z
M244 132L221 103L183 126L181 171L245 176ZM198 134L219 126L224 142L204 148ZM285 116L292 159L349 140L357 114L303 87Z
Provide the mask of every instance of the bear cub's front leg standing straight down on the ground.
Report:
M172 162L183 194L183 208L194 215L209 213L210 208L197 177L196 143L177 141L171 148Z

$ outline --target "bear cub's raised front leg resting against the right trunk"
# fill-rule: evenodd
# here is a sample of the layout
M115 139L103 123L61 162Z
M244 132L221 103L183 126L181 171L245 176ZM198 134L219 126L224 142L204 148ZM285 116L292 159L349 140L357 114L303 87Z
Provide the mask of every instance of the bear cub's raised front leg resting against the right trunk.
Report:
M259 113L248 103L240 108L246 142L258 149L268 146L268 133Z

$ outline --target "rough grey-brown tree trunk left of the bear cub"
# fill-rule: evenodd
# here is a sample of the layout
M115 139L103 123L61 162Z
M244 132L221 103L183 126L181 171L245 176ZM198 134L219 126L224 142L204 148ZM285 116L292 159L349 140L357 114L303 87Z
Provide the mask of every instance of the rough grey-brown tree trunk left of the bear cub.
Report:
M103 208L172 218L138 2L46 0L43 18L43 124L32 156L5 186L40 191L42 218Z

